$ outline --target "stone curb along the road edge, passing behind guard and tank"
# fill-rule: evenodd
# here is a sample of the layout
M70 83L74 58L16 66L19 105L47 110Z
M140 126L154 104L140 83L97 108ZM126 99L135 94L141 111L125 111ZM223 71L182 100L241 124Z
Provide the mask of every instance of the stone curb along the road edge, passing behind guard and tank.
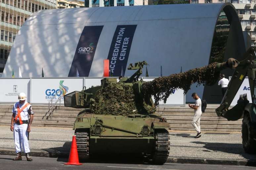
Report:
M31 150L31 156L35 157L64 157L68 158L69 153L60 152L53 149ZM0 148L0 155L16 155L14 149ZM246 159L211 159L199 157L175 157L169 156L166 163L190 163L190 164L216 164L216 165L240 165L240 166L256 166L255 160Z

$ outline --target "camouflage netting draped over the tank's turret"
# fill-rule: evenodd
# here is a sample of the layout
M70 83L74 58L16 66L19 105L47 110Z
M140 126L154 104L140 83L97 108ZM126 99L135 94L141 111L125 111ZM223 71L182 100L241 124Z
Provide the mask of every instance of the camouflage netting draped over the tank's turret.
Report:
M104 79L103 88L95 99L91 99L92 113L106 115L151 114L155 111L150 98L144 100L135 95L132 84L110 82Z

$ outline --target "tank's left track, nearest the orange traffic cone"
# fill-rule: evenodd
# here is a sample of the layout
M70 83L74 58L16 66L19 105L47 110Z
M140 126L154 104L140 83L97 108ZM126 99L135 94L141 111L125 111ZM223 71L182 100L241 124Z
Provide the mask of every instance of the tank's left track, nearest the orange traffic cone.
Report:
M76 145L79 160L89 158L89 135L87 132L76 132Z

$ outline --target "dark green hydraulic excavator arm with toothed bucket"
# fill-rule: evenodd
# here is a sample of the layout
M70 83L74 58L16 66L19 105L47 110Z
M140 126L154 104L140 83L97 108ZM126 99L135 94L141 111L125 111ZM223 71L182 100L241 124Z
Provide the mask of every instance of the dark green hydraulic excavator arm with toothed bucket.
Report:
M252 100L255 99L255 78L256 78L256 48L251 47L246 51L243 60L239 61L235 66L234 74L229 82L228 89L224 95L220 106L216 109L218 116L227 118L228 120L238 120L243 117L244 109L249 103L246 95L241 95L237 104L229 110L229 106L240 88L244 78L248 76L251 89ZM222 69L220 69L222 70Z

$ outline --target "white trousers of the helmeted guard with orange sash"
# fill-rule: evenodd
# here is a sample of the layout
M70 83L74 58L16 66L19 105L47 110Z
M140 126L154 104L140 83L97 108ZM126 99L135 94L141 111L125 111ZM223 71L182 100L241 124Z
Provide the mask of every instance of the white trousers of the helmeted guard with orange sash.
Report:
M21 152L21 148L23 148L24 153L29 153L30 150L29 150L28 139L27 139L28 137L27 124L17 125L15 123L13 136L14 136L16 153Z

